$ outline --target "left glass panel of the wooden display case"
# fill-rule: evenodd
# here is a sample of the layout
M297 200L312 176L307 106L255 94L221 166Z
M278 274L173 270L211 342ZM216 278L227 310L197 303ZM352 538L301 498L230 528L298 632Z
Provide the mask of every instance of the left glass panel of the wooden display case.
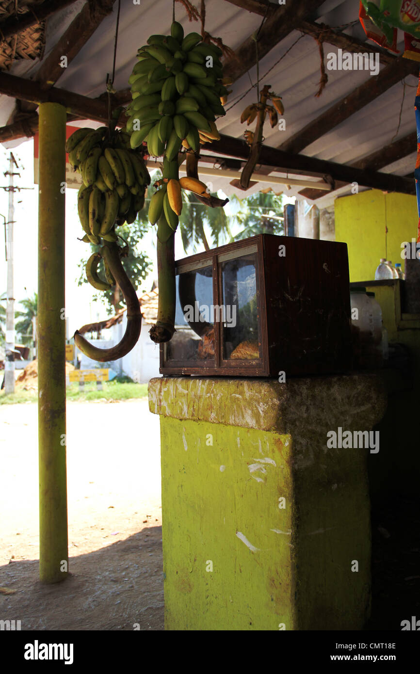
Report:
M177 274L176 284L176 332L165 345L165 361L214 363L212 266Z

